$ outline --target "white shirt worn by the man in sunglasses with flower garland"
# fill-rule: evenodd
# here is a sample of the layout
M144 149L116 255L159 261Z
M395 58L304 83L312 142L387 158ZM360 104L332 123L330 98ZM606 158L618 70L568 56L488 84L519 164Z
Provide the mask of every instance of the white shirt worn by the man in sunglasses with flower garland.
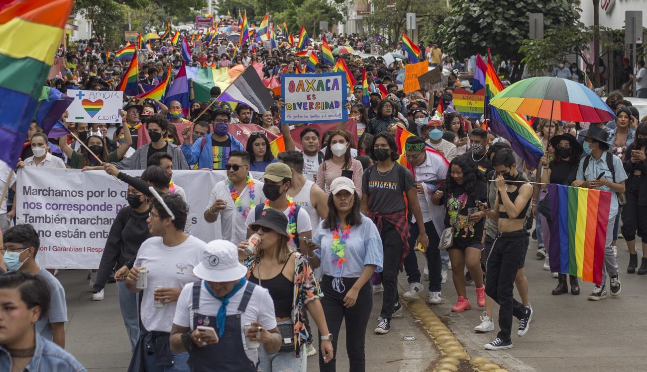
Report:
M229 192L227 181L228 180L223 180L215 184L214 189L211 191L211 196L209 196L209 203L206 205L206 208L209 209L209 207L214 205L215 201L218 199L222 199L227 202L226 208L218 212L218 218L223 232L223 239L229 240L238 245L238 243L247 239L247 218L243 216L242 212L238 211L236 204L234 204L234 199L232 199L232 194ZM250 197L247 185L245 186L245 189L241 191L240 195L243 210L249 211ZM254 180L254 204L261 204L265 202L265 199L265 194L263 194L263 183L261 181Z

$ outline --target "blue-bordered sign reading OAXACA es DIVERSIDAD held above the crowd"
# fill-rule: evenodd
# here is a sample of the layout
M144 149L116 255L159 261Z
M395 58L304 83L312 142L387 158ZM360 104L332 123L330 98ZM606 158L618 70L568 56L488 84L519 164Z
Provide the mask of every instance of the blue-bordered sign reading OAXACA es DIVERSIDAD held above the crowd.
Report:
M345 72L327 74L283 74L281 110L283 123L330 123L346 121Z

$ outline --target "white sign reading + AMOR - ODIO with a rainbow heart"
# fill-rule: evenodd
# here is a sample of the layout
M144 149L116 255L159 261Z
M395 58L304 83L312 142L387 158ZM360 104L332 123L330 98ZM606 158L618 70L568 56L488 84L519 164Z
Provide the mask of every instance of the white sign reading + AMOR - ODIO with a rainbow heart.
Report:
M76 123L121 123L124 92L103 90L74 90L67 108L67 121Z

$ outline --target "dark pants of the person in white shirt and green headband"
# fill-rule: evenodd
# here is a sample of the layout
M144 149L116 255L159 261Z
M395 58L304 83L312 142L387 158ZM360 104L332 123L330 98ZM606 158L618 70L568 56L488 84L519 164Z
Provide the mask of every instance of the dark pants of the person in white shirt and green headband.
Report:
M433 225L433 221L424 223L424 231L429 237L429 246L425 253L427 266L429 267L429 291L440 292L441 282L443 281L443 276L441 274L441 271L443 270L443 260L441 259L441 251L438 250L438 243L440 243L441 238L439 238L438 232L436 232L436 227ZM418 224L409 223L409 232L409 254L404 258L404 271L406 271L409 283L422 283L420 280L418 258L413 250L416 245L415 240L418 237L419 232Z

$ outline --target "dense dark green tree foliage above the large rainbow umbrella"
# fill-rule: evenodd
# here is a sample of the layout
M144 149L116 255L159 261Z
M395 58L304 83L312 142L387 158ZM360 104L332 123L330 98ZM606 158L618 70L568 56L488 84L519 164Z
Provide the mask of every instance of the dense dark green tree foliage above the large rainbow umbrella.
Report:
M450 1L450 12L439 33L443 52L457 59L485 54L502 59L523 57L519 48L529 33L529 14L543 13L544 34L551 28L574 25L580 18L579 0Z

